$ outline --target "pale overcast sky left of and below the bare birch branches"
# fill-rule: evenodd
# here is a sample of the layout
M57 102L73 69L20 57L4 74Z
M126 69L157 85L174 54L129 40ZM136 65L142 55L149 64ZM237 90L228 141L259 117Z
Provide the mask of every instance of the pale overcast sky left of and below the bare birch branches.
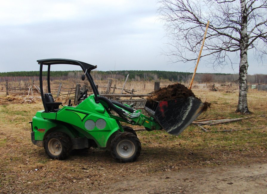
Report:
M167 40L158 7L156 0L1 1L0 72L36 71L36 60L45 58L75 59L103 71L193 72L194 63L170 64L161 54ZM197 72L238 73L238 66L213 70L202 60ZM267 74L267 67L251 57L248 73Z

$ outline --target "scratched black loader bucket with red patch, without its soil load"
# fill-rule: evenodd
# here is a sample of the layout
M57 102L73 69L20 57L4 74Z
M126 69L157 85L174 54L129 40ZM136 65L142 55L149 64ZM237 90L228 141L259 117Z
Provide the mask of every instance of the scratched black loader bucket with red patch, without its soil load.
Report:
M202 112L204 104L195 97L178 98L168 101L148 100L146 112L172 135L179 135Z

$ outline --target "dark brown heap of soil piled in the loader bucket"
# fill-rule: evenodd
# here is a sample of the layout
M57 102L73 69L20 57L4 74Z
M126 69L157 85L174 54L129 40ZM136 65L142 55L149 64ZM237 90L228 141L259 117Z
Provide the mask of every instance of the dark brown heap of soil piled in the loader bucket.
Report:
M183 84L172 84L168 85L167 87L162 87L159 90L156 90L151 93L151 97L148 97L148 100L154 100L154 101L166 101L166 100L173 100L177 98L187 98L195 96L195 94L192 92L192 90L189 90L187 87L185 87ZM200 98L197 98L200 100ZM201 100L200 100L201 101ZM210 102L203 102L204 107L203 110L206 111L208 108L210 108L211 103Z

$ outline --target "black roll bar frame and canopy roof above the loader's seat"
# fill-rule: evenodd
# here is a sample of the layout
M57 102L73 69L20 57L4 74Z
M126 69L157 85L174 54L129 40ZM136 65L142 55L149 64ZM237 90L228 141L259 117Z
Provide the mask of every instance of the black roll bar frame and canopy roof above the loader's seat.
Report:
M51 89L50 89L50 66L53 64L70 64L70 65L79 65L82 70L84 71L85 75L87 76L87 79L89 81L89 83L91 84L92 87L92 91L95 95L95 102L99 103L98 100L98 96L99 92L98 89L95 85L95 81L93 80L90 72L91 70L97 68L97 66L95 65L91 65L88 63L84 63L81 61L76 61L76 60L72 60L72 59L64 59L64 58L50 58L50 59L41 59L41 60L37 60L38 64L40 64L40 76L39 76L39 81L40 81L40 92L41 92L41 97L42 97L42 101L43 101L43 105L44 105L44 111L46 113L48 113L47 110L47 106L45 104L45 100L44 100L44 92L43 92L43 65L47 65L47 88L48 88L48 93L51 93Z

